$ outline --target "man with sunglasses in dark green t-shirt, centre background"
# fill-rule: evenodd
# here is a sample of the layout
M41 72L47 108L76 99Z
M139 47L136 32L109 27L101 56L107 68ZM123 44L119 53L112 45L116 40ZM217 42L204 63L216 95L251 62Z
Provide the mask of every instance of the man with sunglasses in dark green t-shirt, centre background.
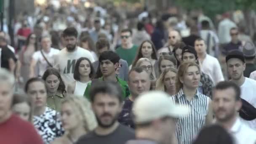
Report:
M131 29L123 29L121 31L121 42L122 45L117 48L116 52L121 59L127 61L128 66L130 66L137 53L137 45L132 43L132 31Z

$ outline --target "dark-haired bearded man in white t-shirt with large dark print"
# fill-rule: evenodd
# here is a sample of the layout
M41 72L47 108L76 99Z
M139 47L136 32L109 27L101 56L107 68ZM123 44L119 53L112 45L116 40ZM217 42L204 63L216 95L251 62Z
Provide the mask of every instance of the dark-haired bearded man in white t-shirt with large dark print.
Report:
M90 51L77 46L77 35L77 30L74 27L68 27L63 31L62 38L66 48L59 51L54 60L54 67L59 70L65 84L75 80L73 73L77 59L86 57L94 62Z

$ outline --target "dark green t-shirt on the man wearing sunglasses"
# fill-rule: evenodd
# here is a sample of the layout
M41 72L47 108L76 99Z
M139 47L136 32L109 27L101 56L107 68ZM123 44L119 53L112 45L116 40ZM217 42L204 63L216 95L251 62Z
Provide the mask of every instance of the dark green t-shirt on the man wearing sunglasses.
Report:
M121 47L117 48L116 53L120 56L121 59L127 61L128 66L130 66L136 56L138 46L133 45L130 49L124 49Z

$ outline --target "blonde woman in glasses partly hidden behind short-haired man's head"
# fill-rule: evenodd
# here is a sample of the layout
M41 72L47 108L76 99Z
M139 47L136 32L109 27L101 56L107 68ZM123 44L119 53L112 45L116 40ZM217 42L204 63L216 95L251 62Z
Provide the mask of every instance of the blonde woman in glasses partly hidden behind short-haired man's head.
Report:
M141 68L145 69L146 72L149 73L149 75L150 75L150 80L155 80L155 69L149 59L140 58L137 61L135 67L141 67Z

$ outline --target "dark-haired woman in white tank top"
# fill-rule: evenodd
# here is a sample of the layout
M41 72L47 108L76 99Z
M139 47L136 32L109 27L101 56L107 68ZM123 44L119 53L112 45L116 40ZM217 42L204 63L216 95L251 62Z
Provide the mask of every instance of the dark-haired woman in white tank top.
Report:
M85 88L94 77L94 69L91 61L85 57L77 60L74 70L75 81L67 87L67 93L75 96L83 96Z

